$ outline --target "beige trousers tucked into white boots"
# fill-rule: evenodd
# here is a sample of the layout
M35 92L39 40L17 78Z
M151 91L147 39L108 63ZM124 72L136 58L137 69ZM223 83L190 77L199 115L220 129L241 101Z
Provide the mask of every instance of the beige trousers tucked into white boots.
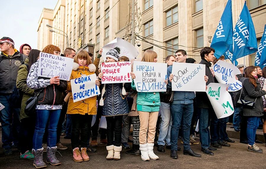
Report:
M140 144L153 143L155 138L158 112L141 112L140 117ZM148 134L148 138L147 138Z

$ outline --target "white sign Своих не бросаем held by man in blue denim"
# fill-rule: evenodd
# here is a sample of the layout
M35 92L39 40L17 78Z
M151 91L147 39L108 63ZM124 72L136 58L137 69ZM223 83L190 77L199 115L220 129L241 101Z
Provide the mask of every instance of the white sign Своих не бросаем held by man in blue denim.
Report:
M205 65L173 62L172 91L205 91Z

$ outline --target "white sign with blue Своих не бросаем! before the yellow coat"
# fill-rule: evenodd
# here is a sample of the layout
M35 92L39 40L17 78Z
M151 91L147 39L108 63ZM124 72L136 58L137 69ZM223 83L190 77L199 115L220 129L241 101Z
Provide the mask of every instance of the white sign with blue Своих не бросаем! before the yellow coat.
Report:
M96 74L72 79L70 82L73 102L77 102L100 94L99 87L95 84L96 79Z

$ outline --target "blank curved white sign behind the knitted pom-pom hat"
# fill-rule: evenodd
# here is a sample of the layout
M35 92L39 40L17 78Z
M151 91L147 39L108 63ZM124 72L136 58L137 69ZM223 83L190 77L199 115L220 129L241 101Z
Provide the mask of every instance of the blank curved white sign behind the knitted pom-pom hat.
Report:
M103 46L102 56L104 61L106 60L105 56L107 51L115 47L119 47L121 49L119 54L120 57L126 56L129 58L129 60L131 60L139 55L139 51L131 43L121 38L115 38L114 40Z

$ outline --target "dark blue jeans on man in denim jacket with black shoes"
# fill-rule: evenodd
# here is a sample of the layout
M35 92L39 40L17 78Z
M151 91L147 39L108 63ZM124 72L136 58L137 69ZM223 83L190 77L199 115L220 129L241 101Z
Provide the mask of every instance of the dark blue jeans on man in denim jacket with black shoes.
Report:
M171 150L177 150L177 138L182 121L184 150L189 150L190 124L193 116L193 103L171 104L172 127L171 127Z

